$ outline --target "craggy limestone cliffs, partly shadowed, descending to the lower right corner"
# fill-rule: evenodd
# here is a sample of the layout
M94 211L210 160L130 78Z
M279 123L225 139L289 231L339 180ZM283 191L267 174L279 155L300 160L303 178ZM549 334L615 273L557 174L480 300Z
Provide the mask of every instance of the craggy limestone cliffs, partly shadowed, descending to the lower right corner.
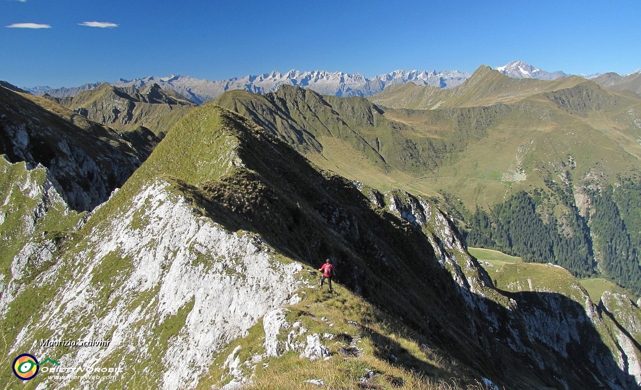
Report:
M578 280L569 275L566 270L553 264L528 264L531 268L543 268L553 275L562 273L567 275L569 284L563 286L563 295L554 293L544 282L536 282L527 278L524 283L529 291L538 294L535 303L529 295L514 296L509 300L497 297L492 288L492 281L485 270L471 257L463 245L458 232L447 216L433 206L430 202L415 197L399 190L388 191L385 194L376 190L365 188L357 184L367 197L379 207L387 207L392 213L404 220L420 227L435 248L440 264L451 273L452 278L460 286L463 297L470 305L470 309L478 309L488 321L490 329L504 329L510 334L506 343L512 350L535 356L542 370L549 370L552 364L547 351L553 350L565 359L570 359L569 351L576 345L590 345L588 355L604 377L612 373L614 378L610 381L613 389L625 388L628 379L626 375L634 378L637 384L641 382L639 359L641 351L633 348L634 343L641 339L641 312L627 297L604 293L600 307L592 303L585 289ZM541 272L537 270L535 272ZM524 270L524 275L535 273ZM513 282L513 288L523 291L525 286L520 282ZM558 287L560 288L560 286ZM527 290L526 290L527 291ZM511 315L501 318L500 314L488 309L488 304L480 297L488 297L506 304ZM572 299L569 300L568 297ZM581 304L579 304L579 302ZM603 319L603 314L608 313L608 307L613 307L610 318ZM613 325L613 323L615 325ZM597 336L590 329L599 329L601 334L613 334L608 337L608 350L596 347L598 343L589 341ZM606 330L612 329L612 330ZM544 345L545 348L540 348ZM603 359L603 353L610 355L613 360ZM615 370L613 362L619 366ZM559 370L559 368L553 368Z

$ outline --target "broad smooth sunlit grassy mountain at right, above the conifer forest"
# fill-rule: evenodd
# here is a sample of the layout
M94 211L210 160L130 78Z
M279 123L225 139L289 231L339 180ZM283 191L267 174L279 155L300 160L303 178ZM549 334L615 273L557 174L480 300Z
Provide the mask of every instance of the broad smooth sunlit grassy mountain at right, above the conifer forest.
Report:
M473 118L468 134L461 120L450 130L450 136L469 140L467 145L437 174L421 179L467 205L493 204L506 190L541 188L546 179L575 184L588 175L612 179L638 168L641 129L635 118L640 103L589 83L516 104L470 108L462 115ZM425 119L413 119L413 124L451 126L452 120L434 119L460 110L420 111ZM434 133L448 136L448 131Z

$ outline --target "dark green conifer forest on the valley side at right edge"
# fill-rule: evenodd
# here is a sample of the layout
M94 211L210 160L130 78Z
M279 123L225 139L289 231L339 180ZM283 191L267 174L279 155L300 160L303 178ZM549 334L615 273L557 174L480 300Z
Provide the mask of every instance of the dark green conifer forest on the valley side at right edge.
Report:
M467 245L558 264L576 277L604 276L641 293L641 182L620 179L616 186L587 190L585 218L569 186L545 184L547 190L519 191L489 210L456 207ZM556 212L555 204L561 205Z

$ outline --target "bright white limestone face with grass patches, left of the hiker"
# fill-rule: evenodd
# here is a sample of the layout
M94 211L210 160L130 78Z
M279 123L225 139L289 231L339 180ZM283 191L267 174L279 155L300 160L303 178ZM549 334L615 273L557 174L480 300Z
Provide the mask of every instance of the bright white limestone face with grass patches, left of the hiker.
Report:
M300 264L274 259L253 234L228 232L194 215L185 199L166 190L168 185L149 184L78 243L74 256L42 275L56 280L58 292L21 332L11 354L37 345L29 336L34 332L51 339L62 334L110 339L108 348L79 348L57 360L106 365L118 356L124 370L139 369L128 361L149 360L162 364L158 387L192 388L222 346L246 334L270 310L300 299ZM38 261L49 256L45 250L29 255ZM25 272L22 258L14 261L2 307L16 295L11 291ZM169 327L177 327L178 336L163 339L162 329ZM29 350L53 353L47 346ZM79 382L100 387L89 374Z

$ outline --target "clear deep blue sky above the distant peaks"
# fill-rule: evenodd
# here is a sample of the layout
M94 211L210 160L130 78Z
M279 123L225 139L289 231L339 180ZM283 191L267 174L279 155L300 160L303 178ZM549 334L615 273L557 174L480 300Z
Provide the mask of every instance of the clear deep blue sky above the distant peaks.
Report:
M24 23L50 27L7 27ZM0 42L0 79L54 88L172 73L472 72L512 60L625 74L641 68L641 1L0 0Z

